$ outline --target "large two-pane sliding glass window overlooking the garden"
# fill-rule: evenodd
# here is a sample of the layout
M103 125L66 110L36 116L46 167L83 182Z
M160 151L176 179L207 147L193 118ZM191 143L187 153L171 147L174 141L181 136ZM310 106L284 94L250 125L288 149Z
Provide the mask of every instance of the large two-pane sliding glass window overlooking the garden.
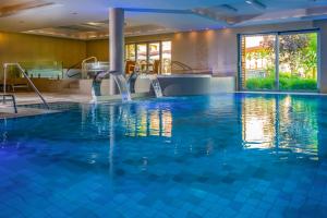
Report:
M241 88L316 90L317 33L241 37Z

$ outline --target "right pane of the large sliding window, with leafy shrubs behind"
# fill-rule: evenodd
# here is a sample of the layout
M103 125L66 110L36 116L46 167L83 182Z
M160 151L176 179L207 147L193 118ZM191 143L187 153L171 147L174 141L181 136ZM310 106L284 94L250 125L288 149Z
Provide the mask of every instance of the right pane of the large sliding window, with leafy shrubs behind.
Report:
M286 33L279 40L279 89L317 90L317 33Z

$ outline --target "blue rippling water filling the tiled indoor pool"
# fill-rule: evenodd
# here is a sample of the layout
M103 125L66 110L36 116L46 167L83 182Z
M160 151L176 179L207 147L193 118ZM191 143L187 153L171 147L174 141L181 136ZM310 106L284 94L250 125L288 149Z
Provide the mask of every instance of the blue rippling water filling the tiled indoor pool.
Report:
M324 217L327 97L51 106L0 121L0 217Z

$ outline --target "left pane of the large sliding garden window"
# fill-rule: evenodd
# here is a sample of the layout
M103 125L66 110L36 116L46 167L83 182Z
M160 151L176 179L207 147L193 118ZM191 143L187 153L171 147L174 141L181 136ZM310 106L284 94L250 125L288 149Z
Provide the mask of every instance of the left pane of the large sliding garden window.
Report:
M242 89L276 89L276 36L244 35L241 38Z

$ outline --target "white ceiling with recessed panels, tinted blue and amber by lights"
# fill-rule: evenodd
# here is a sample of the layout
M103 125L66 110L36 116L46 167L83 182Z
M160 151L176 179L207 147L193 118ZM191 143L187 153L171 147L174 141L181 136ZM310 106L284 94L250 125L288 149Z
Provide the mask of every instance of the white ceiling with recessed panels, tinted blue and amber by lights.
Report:
M111 7L128 36L327 19L327 0L1 0L0 31L104 38Z

